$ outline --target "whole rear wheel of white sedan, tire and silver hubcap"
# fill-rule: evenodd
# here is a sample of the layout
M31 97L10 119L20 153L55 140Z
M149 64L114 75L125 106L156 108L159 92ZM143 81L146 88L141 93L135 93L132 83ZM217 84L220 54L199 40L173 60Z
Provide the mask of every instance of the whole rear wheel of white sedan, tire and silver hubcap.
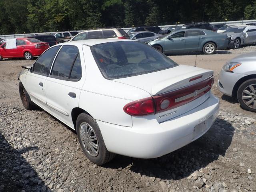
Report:
M88 159L97 165L103 165L115 156L107 150L100 128L94 118L81 113L76 120L76 132L80 146Z

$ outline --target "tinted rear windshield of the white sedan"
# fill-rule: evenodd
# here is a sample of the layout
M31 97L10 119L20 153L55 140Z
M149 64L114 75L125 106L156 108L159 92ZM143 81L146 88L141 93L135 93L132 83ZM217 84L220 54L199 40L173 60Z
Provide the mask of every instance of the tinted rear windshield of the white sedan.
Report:
M136 76L178 65L142 42L108 42L94 45L91 50L102 75L107 79Z

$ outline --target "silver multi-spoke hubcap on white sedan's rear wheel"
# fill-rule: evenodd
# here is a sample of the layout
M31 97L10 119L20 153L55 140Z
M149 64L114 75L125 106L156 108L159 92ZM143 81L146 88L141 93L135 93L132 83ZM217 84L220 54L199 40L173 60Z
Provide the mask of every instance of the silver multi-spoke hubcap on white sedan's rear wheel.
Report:
M85 150L93 157L99 153L99 144L93 128L86 122L80 125L80 139Z

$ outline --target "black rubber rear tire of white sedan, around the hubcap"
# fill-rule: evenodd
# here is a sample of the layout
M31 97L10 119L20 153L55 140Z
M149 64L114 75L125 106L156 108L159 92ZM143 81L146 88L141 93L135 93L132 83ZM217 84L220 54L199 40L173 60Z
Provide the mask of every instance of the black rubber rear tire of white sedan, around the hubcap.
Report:
M92 132L90 134L90 136L96 136L96 141L94 141L94 144L98 145L98 151L97 154L90 154L90 150L86 149L85 143L87 143L85 140L88 139L84 139L84 143L82 142L82 138L83 137L83 128L82 126L86 126L86 127L91 127L92 128ZM106 164L107 162L109 162L110 160L112 160L115 156L114 153L111 153L107 150L102 134L100 132L100 128L96 122L96 120L94 118L92 118L92 116L86 114L86 113L81 113L77 120L76 120L76 132L77 132L77 136L78 136L78 140L80 143L80 146L84 152L84 154L86 155L86 157L88 159L90 159L93 163L97 164L97 165L103 165ZM90 146L88 144L88 146ZM95 148L94 148L95 150Z

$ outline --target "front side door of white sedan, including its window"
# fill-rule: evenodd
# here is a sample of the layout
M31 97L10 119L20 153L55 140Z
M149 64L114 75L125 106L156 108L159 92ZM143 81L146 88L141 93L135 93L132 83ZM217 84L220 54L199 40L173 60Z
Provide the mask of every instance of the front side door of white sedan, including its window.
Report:
M60 46L52 47L46 50L33 64L28 71L24 87L31 100L44 110L50 112L50 108L46 104L46 94L44 91L45 81L50 72L51 64Z

